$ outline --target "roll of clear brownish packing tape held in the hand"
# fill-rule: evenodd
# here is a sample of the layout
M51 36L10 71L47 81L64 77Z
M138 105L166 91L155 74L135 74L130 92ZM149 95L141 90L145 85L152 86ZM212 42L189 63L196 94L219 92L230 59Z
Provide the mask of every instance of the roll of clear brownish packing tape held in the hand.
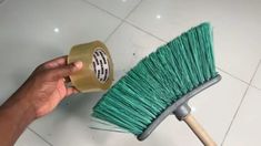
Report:
M72 46L68 63L82 61L81 71L70 75L72 85L80 92L107 90L113 81L113 64L107 46L94 41Z

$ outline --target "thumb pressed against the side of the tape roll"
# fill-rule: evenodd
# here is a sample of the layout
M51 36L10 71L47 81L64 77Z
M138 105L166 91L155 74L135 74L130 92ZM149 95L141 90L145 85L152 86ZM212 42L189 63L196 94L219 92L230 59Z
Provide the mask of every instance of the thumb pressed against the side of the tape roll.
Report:
M52 74L53 80L59 80L69 76L77 71L80 71L82 69L82 65L83 64L81 61L77 61L64 66L52 69L50 71L50 74Z

